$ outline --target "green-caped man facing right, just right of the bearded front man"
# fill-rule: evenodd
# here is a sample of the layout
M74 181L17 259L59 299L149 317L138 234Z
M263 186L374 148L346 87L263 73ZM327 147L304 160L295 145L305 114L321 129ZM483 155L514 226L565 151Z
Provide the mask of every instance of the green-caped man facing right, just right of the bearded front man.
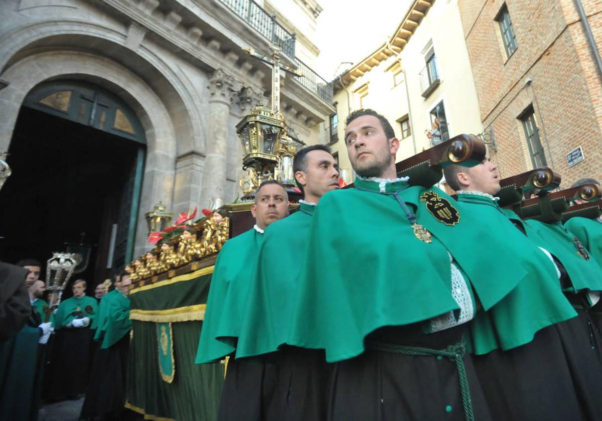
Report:
M557 266L556 274L550 270L548 276L533 273L473 321L474 351L479 355L474 364L492 413L508 420L600 419L602 405L595 398L594 385L602 378L602 360L592 349L600 346L600 338L591 336L589 321L583 319L588 318L586 313L570 308L577 298L574 291L563 293L561 287L569 281L562 262L573 266L573 256L562 251L567 259L556 259L554 251L564 250L558 247L562 239L554 235L542 239L534 228L541 223L522 221L498 206L494 195L500 191L500 180L497 166L489 159L472 168L451 165L444 174L458 193L459 209L477 216L480 224L506 239L506 247L515 251L512 265L518 259L540 257L541 268ZM543 225L539 230L547 229ZM541 261L542 254L533 250L537 247L546 253L547 261ZM500 260L499 264L507 262ZM589 270L582 269L584 274ZM572 279L576 285L583 284L575 272ZM512 346L503 340L508 331L520 339ZM477 343L478 337L488 336L492 339L489 345L486 340Z

